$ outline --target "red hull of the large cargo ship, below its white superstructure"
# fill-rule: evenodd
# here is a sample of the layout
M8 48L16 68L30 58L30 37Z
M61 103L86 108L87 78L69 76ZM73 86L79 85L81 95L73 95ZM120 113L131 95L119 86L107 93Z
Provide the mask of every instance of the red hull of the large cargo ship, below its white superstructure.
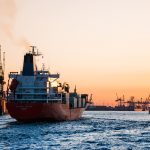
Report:
M61 103L9 101L6 106L10 116L19 122L76 120L85 110L85 108L70 109L69 105Z

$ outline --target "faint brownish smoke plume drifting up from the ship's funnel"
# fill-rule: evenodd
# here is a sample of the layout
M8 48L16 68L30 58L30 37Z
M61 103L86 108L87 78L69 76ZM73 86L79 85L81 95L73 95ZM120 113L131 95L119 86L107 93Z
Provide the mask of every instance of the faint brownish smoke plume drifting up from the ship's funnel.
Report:
M15 0L0 0L0 32L13 44L27 49L31 45L30 42L23 36L17 38L13 33L16 14L17 5Z

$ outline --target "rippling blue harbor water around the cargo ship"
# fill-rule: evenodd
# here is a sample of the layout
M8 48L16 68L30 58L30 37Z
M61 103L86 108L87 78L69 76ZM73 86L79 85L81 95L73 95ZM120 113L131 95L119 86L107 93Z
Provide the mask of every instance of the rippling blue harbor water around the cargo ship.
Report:
M149 150L148 112L85 111L78 121L18 123L0 116L1 150Z

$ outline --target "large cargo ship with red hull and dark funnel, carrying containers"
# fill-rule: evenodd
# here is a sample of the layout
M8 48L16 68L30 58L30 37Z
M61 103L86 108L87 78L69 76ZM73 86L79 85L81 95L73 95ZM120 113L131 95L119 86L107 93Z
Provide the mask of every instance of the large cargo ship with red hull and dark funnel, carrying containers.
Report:
M35 57L41 54L32 46L24 55L23 70L10 72L6 107L19 122L76 120L90 104L88 94L69 91L68 83L58 81L44 67L38 70Z

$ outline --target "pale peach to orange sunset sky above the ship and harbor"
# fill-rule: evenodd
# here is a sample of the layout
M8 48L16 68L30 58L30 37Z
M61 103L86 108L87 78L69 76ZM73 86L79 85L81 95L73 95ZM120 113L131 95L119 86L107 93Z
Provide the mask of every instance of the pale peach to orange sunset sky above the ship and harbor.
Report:
M149 0L0 0L0 44L6 77L36 45L39 64L95 104L150 94Z

